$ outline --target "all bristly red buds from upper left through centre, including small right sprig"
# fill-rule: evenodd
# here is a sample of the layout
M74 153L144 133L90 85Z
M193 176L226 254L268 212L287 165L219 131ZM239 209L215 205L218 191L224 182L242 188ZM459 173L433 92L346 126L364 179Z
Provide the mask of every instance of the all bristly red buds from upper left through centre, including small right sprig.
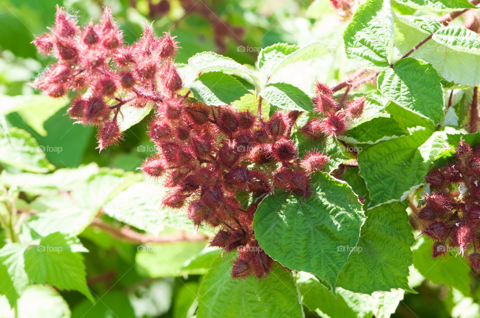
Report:
M157 153L141 170L161 178L170 189L163 205L185 209L196 226L218 230L210 245L238 251L233 277L268 275L273 260L259 247L252 230L260 199L274 190L307 198L309 176L328 161L318 151L299 158L291 132L300 112L276 111L265 121L260 112L205 105L189 98L189 91L180 95L173 38L168 33L157 38L145 25L137 42L124 45L107 8L100 23L83 28L57 8L51 32L34 43L58 62L33 86L53 97L78 92L69 114L100 127L100 150L120 138L116 121L120 107L153 104L148 135ZM299 130L320 139L343 133L346 120L360 116L364 99L343 105L330 88L316 83L314 101L317 114ZM250 204L242 205L240 196L248 197Z

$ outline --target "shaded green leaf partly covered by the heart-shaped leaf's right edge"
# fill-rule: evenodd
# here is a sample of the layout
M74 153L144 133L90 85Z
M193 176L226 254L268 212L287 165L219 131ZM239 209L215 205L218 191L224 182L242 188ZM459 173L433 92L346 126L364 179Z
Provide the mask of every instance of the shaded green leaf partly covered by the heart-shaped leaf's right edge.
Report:
M405 204L393 202L366 211L360 240L338 277L338 286L364 294L409 289L410 246L415 241L405 209Z

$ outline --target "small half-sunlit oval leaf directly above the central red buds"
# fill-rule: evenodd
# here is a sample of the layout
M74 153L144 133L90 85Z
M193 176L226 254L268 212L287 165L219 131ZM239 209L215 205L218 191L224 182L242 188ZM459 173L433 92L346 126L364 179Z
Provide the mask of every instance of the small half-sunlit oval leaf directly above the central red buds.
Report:
M291 84L267 84L260 91L260 96L273 106L284 110L306 110L308 112L313 110L313 103L310 97Z

